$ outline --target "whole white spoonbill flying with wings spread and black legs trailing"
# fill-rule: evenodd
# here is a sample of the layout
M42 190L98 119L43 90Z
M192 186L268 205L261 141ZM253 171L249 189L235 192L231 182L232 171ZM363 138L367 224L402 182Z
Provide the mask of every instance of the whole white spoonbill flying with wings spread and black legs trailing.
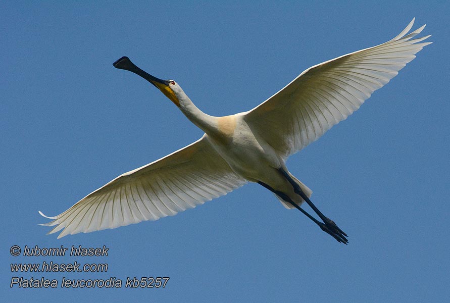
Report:
M173 80L147 74L127 57L114 67L129 70L159 88L205 134L174 153L124 173L41 225L55 226L58 238L79 232L158 220L194 208L245 184L271 190L288 209L297 208L337 241L346 234L310 201L305 184L287 169L285 160L347 118L378 88L431 42L408 34L414 19L395 38L377 46L315 65L256 108L213 117L199 110ZM414 39L413 39L414 38ZM420 43L421 42L421 43ZM303 201L323 221L300 206Z

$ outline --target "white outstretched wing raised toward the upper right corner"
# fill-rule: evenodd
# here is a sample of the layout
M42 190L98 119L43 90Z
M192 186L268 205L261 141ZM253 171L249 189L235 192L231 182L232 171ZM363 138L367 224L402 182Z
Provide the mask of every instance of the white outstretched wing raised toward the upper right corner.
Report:
M245 115L255 132L283 158L317 140L359 109L378 88L416 58L431 42L408 34L414 19L395 38L310 67L283 89Z

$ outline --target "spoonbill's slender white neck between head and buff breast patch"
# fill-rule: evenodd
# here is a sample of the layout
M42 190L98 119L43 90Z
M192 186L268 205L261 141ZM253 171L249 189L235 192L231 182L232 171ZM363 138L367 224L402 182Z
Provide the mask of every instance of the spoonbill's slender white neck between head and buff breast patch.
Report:
M209 135L218 131L217 117L210 116L199 110L187 96L183 96L179 106L181 112L198 128Z

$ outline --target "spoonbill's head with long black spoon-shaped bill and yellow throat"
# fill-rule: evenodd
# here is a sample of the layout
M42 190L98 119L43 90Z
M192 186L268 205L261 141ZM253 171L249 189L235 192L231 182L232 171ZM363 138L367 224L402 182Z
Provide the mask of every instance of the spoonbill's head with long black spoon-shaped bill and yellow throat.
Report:
M182 90L175 81L159 79L144 72L134 65L128 57L120 58L113 63L113 66L115 68L127 70L141 76L161 90L177 107L180 107L180 99L178 98L178 94Z

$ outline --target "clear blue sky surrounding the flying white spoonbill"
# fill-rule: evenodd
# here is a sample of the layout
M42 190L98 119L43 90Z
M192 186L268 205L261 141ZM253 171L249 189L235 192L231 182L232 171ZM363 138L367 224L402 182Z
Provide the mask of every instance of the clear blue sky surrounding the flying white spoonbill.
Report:
M363 3L363 2L361 2ZM450 292L448 3L0 4L3 301L442 301ZM130 57L203 111L251 109L306 68L382 43L416 17L434 43L354 115L288 160L337 243L262 186L156 222L67 236L38 226L119 174L202 133ZM10 247L109 247L108 257L13 257ZM107 263L106 273L11 273L11 263ZM58 288L10 288L19 276ZM170 277L159 289L66 279ZM125 284L125 283L124 283Z

